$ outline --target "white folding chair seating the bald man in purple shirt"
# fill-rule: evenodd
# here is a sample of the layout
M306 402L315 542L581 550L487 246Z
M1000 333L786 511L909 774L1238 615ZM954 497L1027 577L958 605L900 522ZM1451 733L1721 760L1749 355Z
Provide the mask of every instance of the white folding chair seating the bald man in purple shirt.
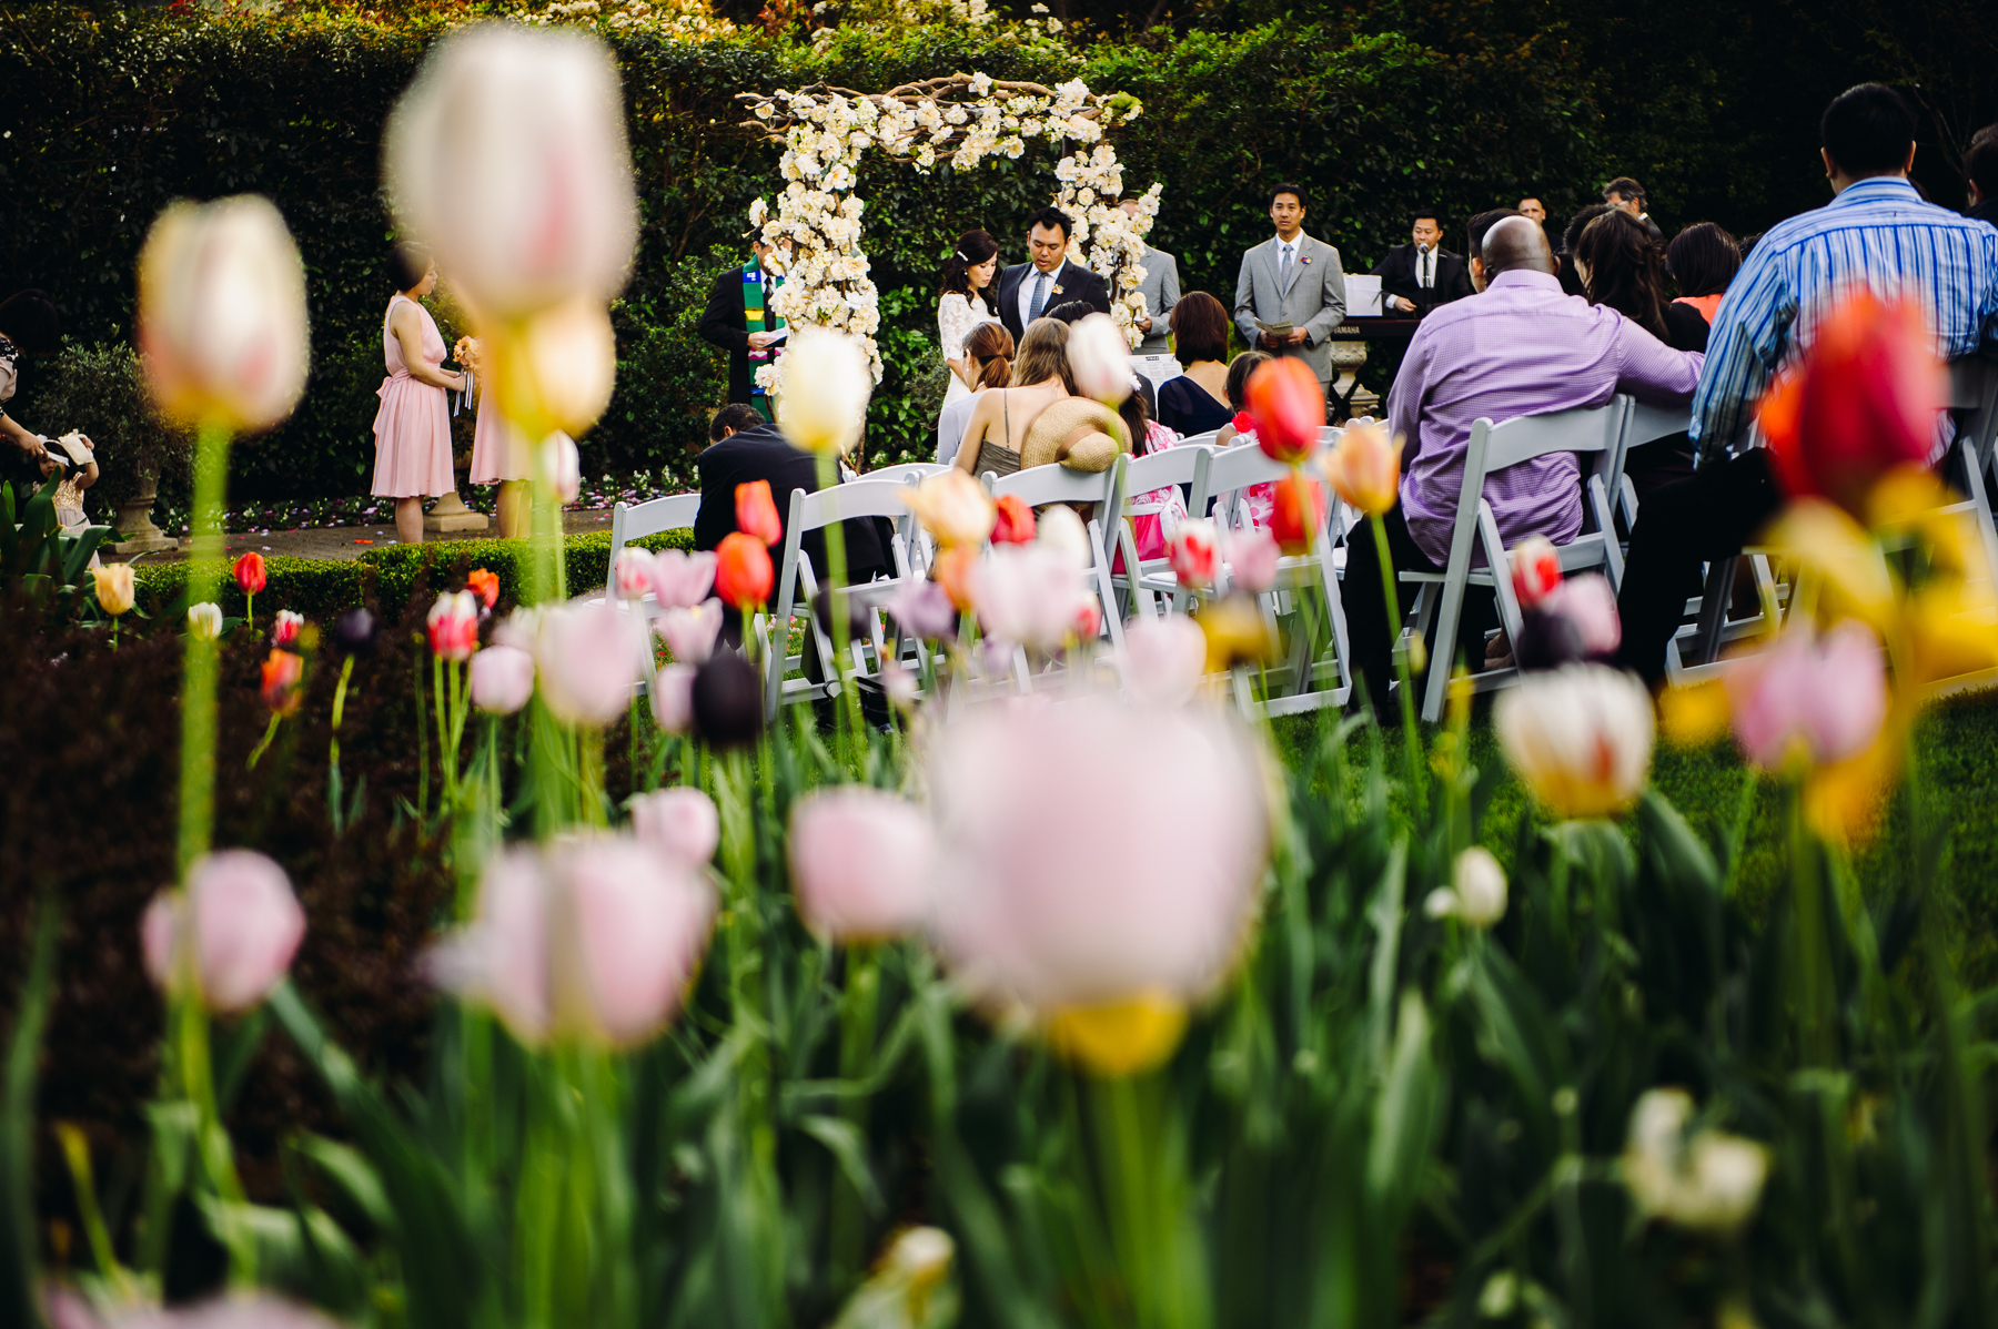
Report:
M1588 469L1588 503L1584 519L1592 517L1596 529L1582 531L1568 545L1560 547L1560 571L1600 567L1610 575L1610 585L1622 581L1622 551L1616 547L1616 527L1610 525L1608 479L1616 467L1616 449L1622 441L1624 413L1628 397L1612 397L1608 405L1552 415L1520 415L1502 425L1479 419L1471 425L1471 441L1465 449L1465 481L1457 499L1457 523L1451 531L1451 557L1441 573L1403 573L1407 583L1423 587L1415 605L1415 631L1427 633L1431 617L1437 621L1437 651L1429 661L1429 684L1423 698L1423 718L1435 724L1443 718L1443 698L1451 684L1451 661L1457 655L1457 625L1465 611L1465 591L1469 587L1491 587L1498 595L1498 623L1506 639L1518 643L1520 609L1512 595L1512 577L1506 565L1506 547L1498 537L1498 519L1485 497L1485 481L1534 457L1550 453L1592 453ZM1584 521L1586 525L1586 521ZM1473 569L1473 553L1485 555L1485 567ZM1473 686L1479 692L1506 686L1518 680L1518 670L1481 668L1483 661L1473 661Z

